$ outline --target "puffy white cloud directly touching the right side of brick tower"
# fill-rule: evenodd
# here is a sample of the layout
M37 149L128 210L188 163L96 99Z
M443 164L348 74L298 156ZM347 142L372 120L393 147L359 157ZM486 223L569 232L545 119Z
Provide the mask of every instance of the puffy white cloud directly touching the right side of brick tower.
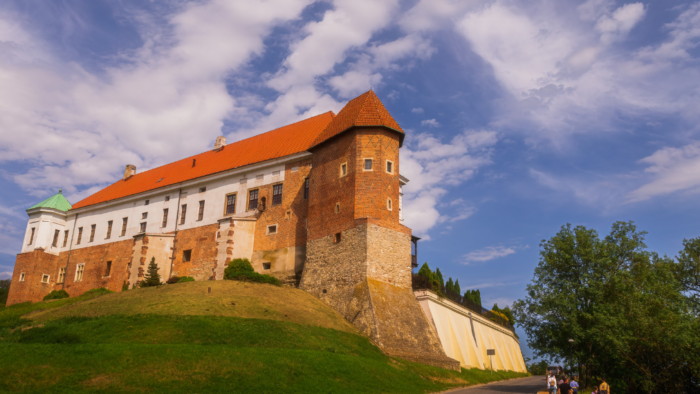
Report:
M401 173L410 182L404 186L405 223L414 233L429 239L428 231L440 222L468 218L475 208L458 204L448 213L438 205L448 188L474 176L481 167L491 164L493 146L498 137L493 131L465 131L449 143L432 134L418 134L407 139L401 150Z

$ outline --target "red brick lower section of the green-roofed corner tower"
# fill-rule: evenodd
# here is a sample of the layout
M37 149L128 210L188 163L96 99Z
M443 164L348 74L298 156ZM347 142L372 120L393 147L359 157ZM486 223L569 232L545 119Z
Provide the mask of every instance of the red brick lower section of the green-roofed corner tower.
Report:
M46 253L41 248L18 254L6 305L41 301L55 288L58 279L57 264L58 256ZM19 281L21 273L24 273L22 282ZM51 275L49 283L41 283L44 274Z

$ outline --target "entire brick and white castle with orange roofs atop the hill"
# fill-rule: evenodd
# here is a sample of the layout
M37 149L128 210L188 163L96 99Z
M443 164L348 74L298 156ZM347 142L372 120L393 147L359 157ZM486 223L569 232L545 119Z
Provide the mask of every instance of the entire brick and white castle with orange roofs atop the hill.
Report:
M403 225L404 131L374 92L327 112L138 173L72 205L60 193L29 208L7 305L52 290L223 279L248 258L259 273L320 298L385 353L458 369L411 288ZM520 356L522 359L522 356Z

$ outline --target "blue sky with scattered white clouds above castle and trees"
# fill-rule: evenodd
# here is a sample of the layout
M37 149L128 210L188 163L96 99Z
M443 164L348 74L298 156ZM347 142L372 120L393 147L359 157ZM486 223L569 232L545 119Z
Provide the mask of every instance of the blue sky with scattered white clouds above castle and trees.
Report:
M700 236L700 2L5 0L0 278L59 188L75 203L370 88L406 131L419 261L486 306L525 296L567 223L633 220L669 256Z

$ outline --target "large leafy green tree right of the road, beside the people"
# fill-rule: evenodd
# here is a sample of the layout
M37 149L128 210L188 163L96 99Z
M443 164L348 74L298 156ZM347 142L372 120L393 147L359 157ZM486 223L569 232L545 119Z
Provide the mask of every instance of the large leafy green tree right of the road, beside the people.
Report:
M584 384L605 376L628 393L685 392L700 369L699 326L673 262L647 251L645 234L616 222L601 240L566 225L542 241L527 297L513 304L536 357L584 364Z

